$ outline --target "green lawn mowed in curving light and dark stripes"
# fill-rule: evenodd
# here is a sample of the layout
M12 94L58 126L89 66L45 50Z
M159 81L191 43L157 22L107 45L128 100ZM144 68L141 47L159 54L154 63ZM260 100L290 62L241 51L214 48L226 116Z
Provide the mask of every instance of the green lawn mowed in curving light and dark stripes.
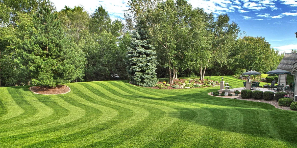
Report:
M207 95L218 86L67 85L71 92L62 95L0 88L0 147L297 147L297 112Z

